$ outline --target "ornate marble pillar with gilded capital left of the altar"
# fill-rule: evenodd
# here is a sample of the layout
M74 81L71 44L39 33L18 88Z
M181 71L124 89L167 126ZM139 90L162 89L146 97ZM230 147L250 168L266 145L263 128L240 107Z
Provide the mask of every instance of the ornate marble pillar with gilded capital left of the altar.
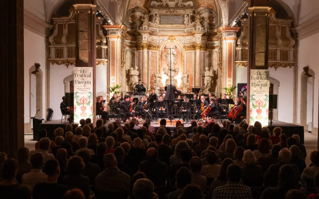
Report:
M121 85L122 36L126 28L123 25L103 25L108 35L108 85Z

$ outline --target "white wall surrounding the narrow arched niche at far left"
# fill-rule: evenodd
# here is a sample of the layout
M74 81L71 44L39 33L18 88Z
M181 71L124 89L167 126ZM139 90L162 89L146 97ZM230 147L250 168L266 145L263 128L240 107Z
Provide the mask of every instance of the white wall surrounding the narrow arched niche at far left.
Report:
M35 64L41 65L42 80L42 117L45 118L45 42L44 37L24 29L24 123L29 123L29 69Z

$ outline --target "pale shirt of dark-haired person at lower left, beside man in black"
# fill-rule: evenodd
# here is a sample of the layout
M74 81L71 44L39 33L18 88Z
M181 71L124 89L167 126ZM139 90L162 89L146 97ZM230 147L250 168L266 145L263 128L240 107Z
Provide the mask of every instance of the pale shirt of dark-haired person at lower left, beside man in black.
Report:
M31 172L22 175L22 184L33 187L39 182L45 182L48 176L42 173L42 169L31 169Z

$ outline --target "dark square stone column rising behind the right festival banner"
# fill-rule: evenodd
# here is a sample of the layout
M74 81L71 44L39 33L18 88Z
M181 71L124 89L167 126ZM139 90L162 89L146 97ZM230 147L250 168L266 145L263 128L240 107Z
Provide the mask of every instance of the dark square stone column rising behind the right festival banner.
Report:
M268 37L269 37L269 7L270 0L250 1L248 8L249 40L247 85L250 85L250 70L268 69ZM248 86L247 93L249 94ZM247 107L249 107L247 100ZM249 108L247 108L249 116Z

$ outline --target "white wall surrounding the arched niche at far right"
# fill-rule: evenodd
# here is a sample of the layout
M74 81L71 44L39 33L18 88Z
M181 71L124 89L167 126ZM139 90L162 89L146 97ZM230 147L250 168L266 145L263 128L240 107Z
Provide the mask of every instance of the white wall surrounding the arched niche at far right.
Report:
M316 33L310 37L302 39L299 41L298 50L298 110L297 110L297 123L300 124L300 97L301 97L301 74L303 72L303 67L309 66L309 69L313 70L315 73L314 78L314 127L318 128L318 101L319 101L319 33ZM302 96L304 97L304 96ZM309 104L307 104L309 106ZM312 109L312 104L310 105ZM308 107L307 107L308 109Z

